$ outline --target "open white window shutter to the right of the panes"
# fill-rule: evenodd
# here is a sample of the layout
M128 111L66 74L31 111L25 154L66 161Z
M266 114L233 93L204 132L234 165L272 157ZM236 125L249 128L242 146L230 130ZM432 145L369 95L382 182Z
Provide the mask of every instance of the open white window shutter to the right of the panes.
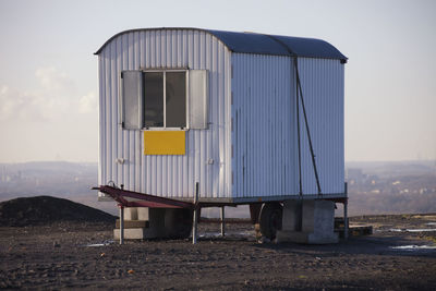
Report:
M206 70L189 71L189 128L207 129L208 80Z

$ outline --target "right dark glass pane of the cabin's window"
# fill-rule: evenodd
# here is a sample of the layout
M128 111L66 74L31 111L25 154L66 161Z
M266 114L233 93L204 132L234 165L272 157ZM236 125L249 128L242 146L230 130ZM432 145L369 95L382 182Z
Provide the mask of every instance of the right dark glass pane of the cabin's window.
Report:
M186 126L185 72L166 73L166 126Z

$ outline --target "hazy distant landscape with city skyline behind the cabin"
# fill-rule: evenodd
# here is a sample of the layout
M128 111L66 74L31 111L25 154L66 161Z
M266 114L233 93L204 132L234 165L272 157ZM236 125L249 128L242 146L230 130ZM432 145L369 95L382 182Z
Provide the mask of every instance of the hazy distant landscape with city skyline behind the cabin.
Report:
M97 163L0 162L0 202L52 195L116 215L117 204L97 202L96 192L90 190L97 185ZM346 162L346 169L351 215L436 211L434 161ZM227 217L250 217L247 206L228 208ZM219 217L219 209L206 208L202 215Z

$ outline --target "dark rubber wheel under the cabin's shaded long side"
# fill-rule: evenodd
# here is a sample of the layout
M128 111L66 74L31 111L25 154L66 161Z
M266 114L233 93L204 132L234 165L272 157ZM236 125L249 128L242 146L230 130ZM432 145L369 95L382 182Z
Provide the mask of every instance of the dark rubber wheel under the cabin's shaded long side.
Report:
M283 207L280 203L266 203L261 210L261 233L269 240L276 239L278 230L281 230Z

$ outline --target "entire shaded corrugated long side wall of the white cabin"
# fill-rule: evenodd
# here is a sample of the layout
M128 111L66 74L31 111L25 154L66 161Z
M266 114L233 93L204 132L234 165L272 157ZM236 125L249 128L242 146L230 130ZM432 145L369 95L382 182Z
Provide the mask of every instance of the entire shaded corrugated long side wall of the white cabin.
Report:
M233 53L233 196L299 193L295 74L289 57ZM324 194L343 193L343 65L299 59ZM317 194L300 107L303 194Z

